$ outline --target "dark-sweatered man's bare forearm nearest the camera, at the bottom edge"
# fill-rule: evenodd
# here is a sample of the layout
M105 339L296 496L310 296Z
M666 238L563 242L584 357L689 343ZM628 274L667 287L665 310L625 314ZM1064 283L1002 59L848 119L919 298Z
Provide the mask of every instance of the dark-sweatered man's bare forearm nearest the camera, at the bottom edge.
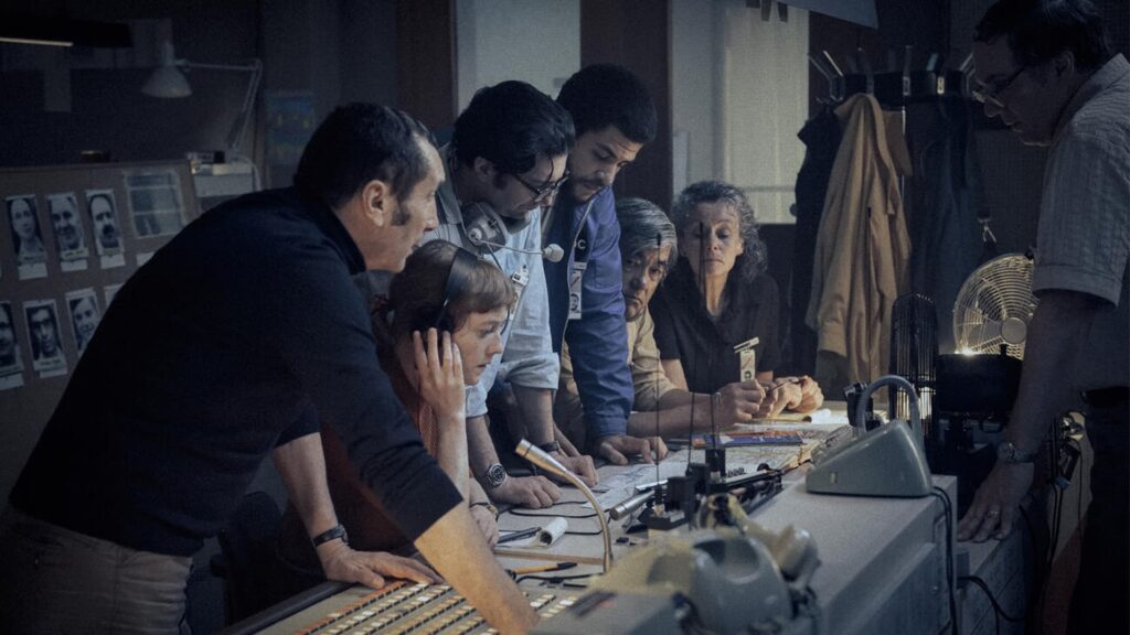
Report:
M447 583L501 633L527 633L538 617L498 566L466 505L458 505L416 539L416 548Z

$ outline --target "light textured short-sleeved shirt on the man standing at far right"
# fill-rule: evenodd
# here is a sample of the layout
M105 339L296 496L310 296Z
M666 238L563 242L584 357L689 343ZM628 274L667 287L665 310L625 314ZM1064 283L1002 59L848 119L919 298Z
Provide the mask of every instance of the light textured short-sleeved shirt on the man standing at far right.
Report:
M1130 384L1130 63L1116 55L1068 103L1040 207L1033 290L1110 303L1072 373L1080 389Z

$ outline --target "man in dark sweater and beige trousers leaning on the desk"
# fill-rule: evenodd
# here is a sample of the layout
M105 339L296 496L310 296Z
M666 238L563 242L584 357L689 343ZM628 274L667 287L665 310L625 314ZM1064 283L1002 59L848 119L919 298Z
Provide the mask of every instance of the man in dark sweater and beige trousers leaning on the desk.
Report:
M340 107L294 188L208 212L122 287L0 523L6 629L177 632L191 555L267 454L329 577L435 580L348 547L320 418L440 574L501 630L533 623L486 543L464 539L475 521L397 401L350 280L399 271L435 227L443 167L429 139L399 111Z

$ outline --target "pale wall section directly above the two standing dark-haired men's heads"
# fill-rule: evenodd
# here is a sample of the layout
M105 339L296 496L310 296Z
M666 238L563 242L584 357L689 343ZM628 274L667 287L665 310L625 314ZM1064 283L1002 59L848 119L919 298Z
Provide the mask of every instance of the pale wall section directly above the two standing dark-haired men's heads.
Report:
M556 97L581 69L581 2L459 0L455 55L460 112L476 90L507 79Z

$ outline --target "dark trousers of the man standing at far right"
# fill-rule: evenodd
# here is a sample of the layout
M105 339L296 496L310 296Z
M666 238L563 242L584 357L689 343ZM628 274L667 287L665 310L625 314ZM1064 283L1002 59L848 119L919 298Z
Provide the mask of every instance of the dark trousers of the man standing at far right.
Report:
M1130 633L1130 402L1124 389L1112 399L1087 397L1095 463L1070 633Z

